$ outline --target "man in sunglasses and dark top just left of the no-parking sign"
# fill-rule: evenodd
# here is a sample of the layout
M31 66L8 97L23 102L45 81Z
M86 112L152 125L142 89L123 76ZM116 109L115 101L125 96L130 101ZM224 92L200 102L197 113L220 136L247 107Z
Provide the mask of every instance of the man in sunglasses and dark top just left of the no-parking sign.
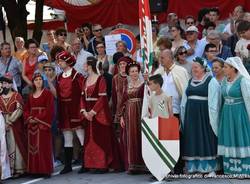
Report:
M88 52L96 56L97 55L96 45L98 43L104 43L104 37L102 35L102 26L100 24L94 24L92 26L92 32L94 37L89 42Z

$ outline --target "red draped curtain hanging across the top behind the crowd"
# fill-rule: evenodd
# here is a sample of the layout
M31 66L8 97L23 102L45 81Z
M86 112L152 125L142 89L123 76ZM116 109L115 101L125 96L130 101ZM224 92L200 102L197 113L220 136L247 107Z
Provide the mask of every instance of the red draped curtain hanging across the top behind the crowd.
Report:
M166 15L175 12L180 18L187 15L197 17L204 7L219 7L221 19L229 16L237 5L250 10L250 0L169 0L168 10L158 15L160 22L166 21ZM68 30L74 31L82 23L99 23L109 27L118 23L138 25L138 0L102 0L89 6L73 6L63 0L45 0L45 4L66 12Z

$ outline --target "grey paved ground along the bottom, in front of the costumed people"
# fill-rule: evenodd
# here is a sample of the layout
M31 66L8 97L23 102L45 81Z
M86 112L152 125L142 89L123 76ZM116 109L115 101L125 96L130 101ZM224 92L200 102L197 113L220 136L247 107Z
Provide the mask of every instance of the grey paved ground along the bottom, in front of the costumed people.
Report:
M126 173L108 174L77 174L79 167L74 167L74 171L59 175L55 172L51 178L20 178L6 180L4 184L248 184L250 180L239 179L168 179L167 181L156 182L151 179L151 175L127 175ZM59 170L58 168L57 170ZM184 176L183 176L184 177Z

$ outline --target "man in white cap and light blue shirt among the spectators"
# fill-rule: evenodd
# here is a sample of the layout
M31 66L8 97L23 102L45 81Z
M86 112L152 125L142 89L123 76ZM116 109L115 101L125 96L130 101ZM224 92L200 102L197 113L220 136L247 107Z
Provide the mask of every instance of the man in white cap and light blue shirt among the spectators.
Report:
M190 26L186 30L187 41L184 42L183 46L187 49L187 61L192 62L195 57L201 57L206 43L198 40L198 28Z

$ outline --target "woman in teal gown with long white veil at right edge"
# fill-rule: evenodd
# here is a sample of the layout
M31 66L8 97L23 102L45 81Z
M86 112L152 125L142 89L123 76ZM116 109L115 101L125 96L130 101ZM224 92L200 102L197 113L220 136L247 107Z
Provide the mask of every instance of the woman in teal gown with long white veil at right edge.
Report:
M225 174L250 175L250 76L239 57L225 61L218 154Z

